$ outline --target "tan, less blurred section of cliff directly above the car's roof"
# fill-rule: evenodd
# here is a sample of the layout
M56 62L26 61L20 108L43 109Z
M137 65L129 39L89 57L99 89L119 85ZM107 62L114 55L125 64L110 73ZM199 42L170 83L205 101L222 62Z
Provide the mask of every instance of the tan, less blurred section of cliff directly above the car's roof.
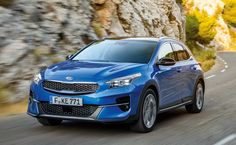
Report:
M93 25L99 36L170 36L184 40L179 6L174 0L93 0Z

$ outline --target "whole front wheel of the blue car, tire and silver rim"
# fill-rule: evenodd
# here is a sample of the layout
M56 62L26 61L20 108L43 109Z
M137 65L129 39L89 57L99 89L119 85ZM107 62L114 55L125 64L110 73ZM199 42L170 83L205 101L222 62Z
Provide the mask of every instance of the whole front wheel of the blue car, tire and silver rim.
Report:
M131 129L138 132L152 131L157 118L156 94L148 89L142 99L139 111L139 119L131 126Z

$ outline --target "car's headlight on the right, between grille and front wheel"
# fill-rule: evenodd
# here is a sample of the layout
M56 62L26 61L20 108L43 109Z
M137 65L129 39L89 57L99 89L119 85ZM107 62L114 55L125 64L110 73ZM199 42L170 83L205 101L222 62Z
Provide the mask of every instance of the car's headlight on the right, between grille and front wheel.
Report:
M141 77L141 73L136 73L136 74L125 76L125 77L112 79L106 83L110 85L110 88L128 86L131 84L131 82L134 79L139 78L139 77Z

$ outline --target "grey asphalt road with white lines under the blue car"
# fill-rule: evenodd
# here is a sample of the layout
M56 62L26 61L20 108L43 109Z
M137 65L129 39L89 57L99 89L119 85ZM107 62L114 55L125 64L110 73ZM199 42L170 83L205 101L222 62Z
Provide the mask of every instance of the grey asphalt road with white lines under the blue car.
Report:
M25 114L0 118L1 145L236 145L236 53L219 53L206 73L205 106L200 114L184 108L159 115L153 132L123 125L65 122L43 127ZM224 60L224 61L223 61Z

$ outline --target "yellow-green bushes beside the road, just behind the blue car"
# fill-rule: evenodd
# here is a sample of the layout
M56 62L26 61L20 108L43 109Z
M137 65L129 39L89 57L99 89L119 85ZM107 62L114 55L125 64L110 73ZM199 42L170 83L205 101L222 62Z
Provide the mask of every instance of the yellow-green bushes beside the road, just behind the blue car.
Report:
M183 1L186 4L186 0ZM221 9L218 10L221 13ZM218 15L218 13L216 15ZM215 64L216 53L214 49L201 48L196 44L200 42L207 45L216 35L216 17L209 16L205 11L194 10L186 14L186 38L187 45L204 71L208 71Z

